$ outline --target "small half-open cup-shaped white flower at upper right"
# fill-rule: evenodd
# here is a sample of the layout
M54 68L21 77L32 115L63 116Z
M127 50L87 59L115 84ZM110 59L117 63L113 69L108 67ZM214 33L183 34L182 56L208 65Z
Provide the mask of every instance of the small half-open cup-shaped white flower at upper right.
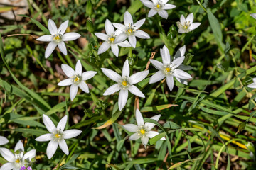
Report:
M201 23L193 23L193 13L190 13L187 18L181 15L181 22L177 22L178 33L188 33L198 28Z

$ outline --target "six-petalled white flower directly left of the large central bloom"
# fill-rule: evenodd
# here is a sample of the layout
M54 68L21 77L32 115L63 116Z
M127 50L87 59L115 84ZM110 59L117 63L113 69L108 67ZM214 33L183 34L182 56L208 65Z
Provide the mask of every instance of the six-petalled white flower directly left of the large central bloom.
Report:
M78 86L85 93L89 93L89 87L85 83L85 80L91 79L97 74L95 71L87 71L82 73L82 64L80 60L75 64L75 71L67 64L61 64L61 69L69 77L58 83L58 86L70 86L70 99L73 101L78 93Z

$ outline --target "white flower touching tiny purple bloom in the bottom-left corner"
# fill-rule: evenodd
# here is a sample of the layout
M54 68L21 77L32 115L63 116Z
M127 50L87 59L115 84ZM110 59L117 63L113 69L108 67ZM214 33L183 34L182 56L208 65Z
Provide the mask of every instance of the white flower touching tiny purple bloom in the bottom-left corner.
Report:
M14 154L4 147L0 147L0 154L6 161L6 164L3 164L0 170L20 170L21 166L24 166L27 162L31 162L31 159L36 157L36 149L32 149L31 151L24 154L24 147L21 140L18 141L14 148ZM25 162L27 160L27 162Z

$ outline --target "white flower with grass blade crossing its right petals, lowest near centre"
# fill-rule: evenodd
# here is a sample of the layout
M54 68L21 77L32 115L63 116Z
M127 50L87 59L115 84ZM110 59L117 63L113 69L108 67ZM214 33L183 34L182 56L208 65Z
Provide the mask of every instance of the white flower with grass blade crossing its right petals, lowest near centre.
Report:
M158 121L161 115L155 115L151 117L151 119ZM159 132L151 131L152 128L154 128L154 123L144 123L144 119L142 117L142 113L137 109L136 110L136 121L137 125L134 124L127 124L122 125L125 130L129 132L134 132L129 137L129 140L138 140L141 138L142 144L146 147L147 143L149 142L149 138L152 138L156 135L159 135ZM162 137L160 140L166 140L164 137Z

